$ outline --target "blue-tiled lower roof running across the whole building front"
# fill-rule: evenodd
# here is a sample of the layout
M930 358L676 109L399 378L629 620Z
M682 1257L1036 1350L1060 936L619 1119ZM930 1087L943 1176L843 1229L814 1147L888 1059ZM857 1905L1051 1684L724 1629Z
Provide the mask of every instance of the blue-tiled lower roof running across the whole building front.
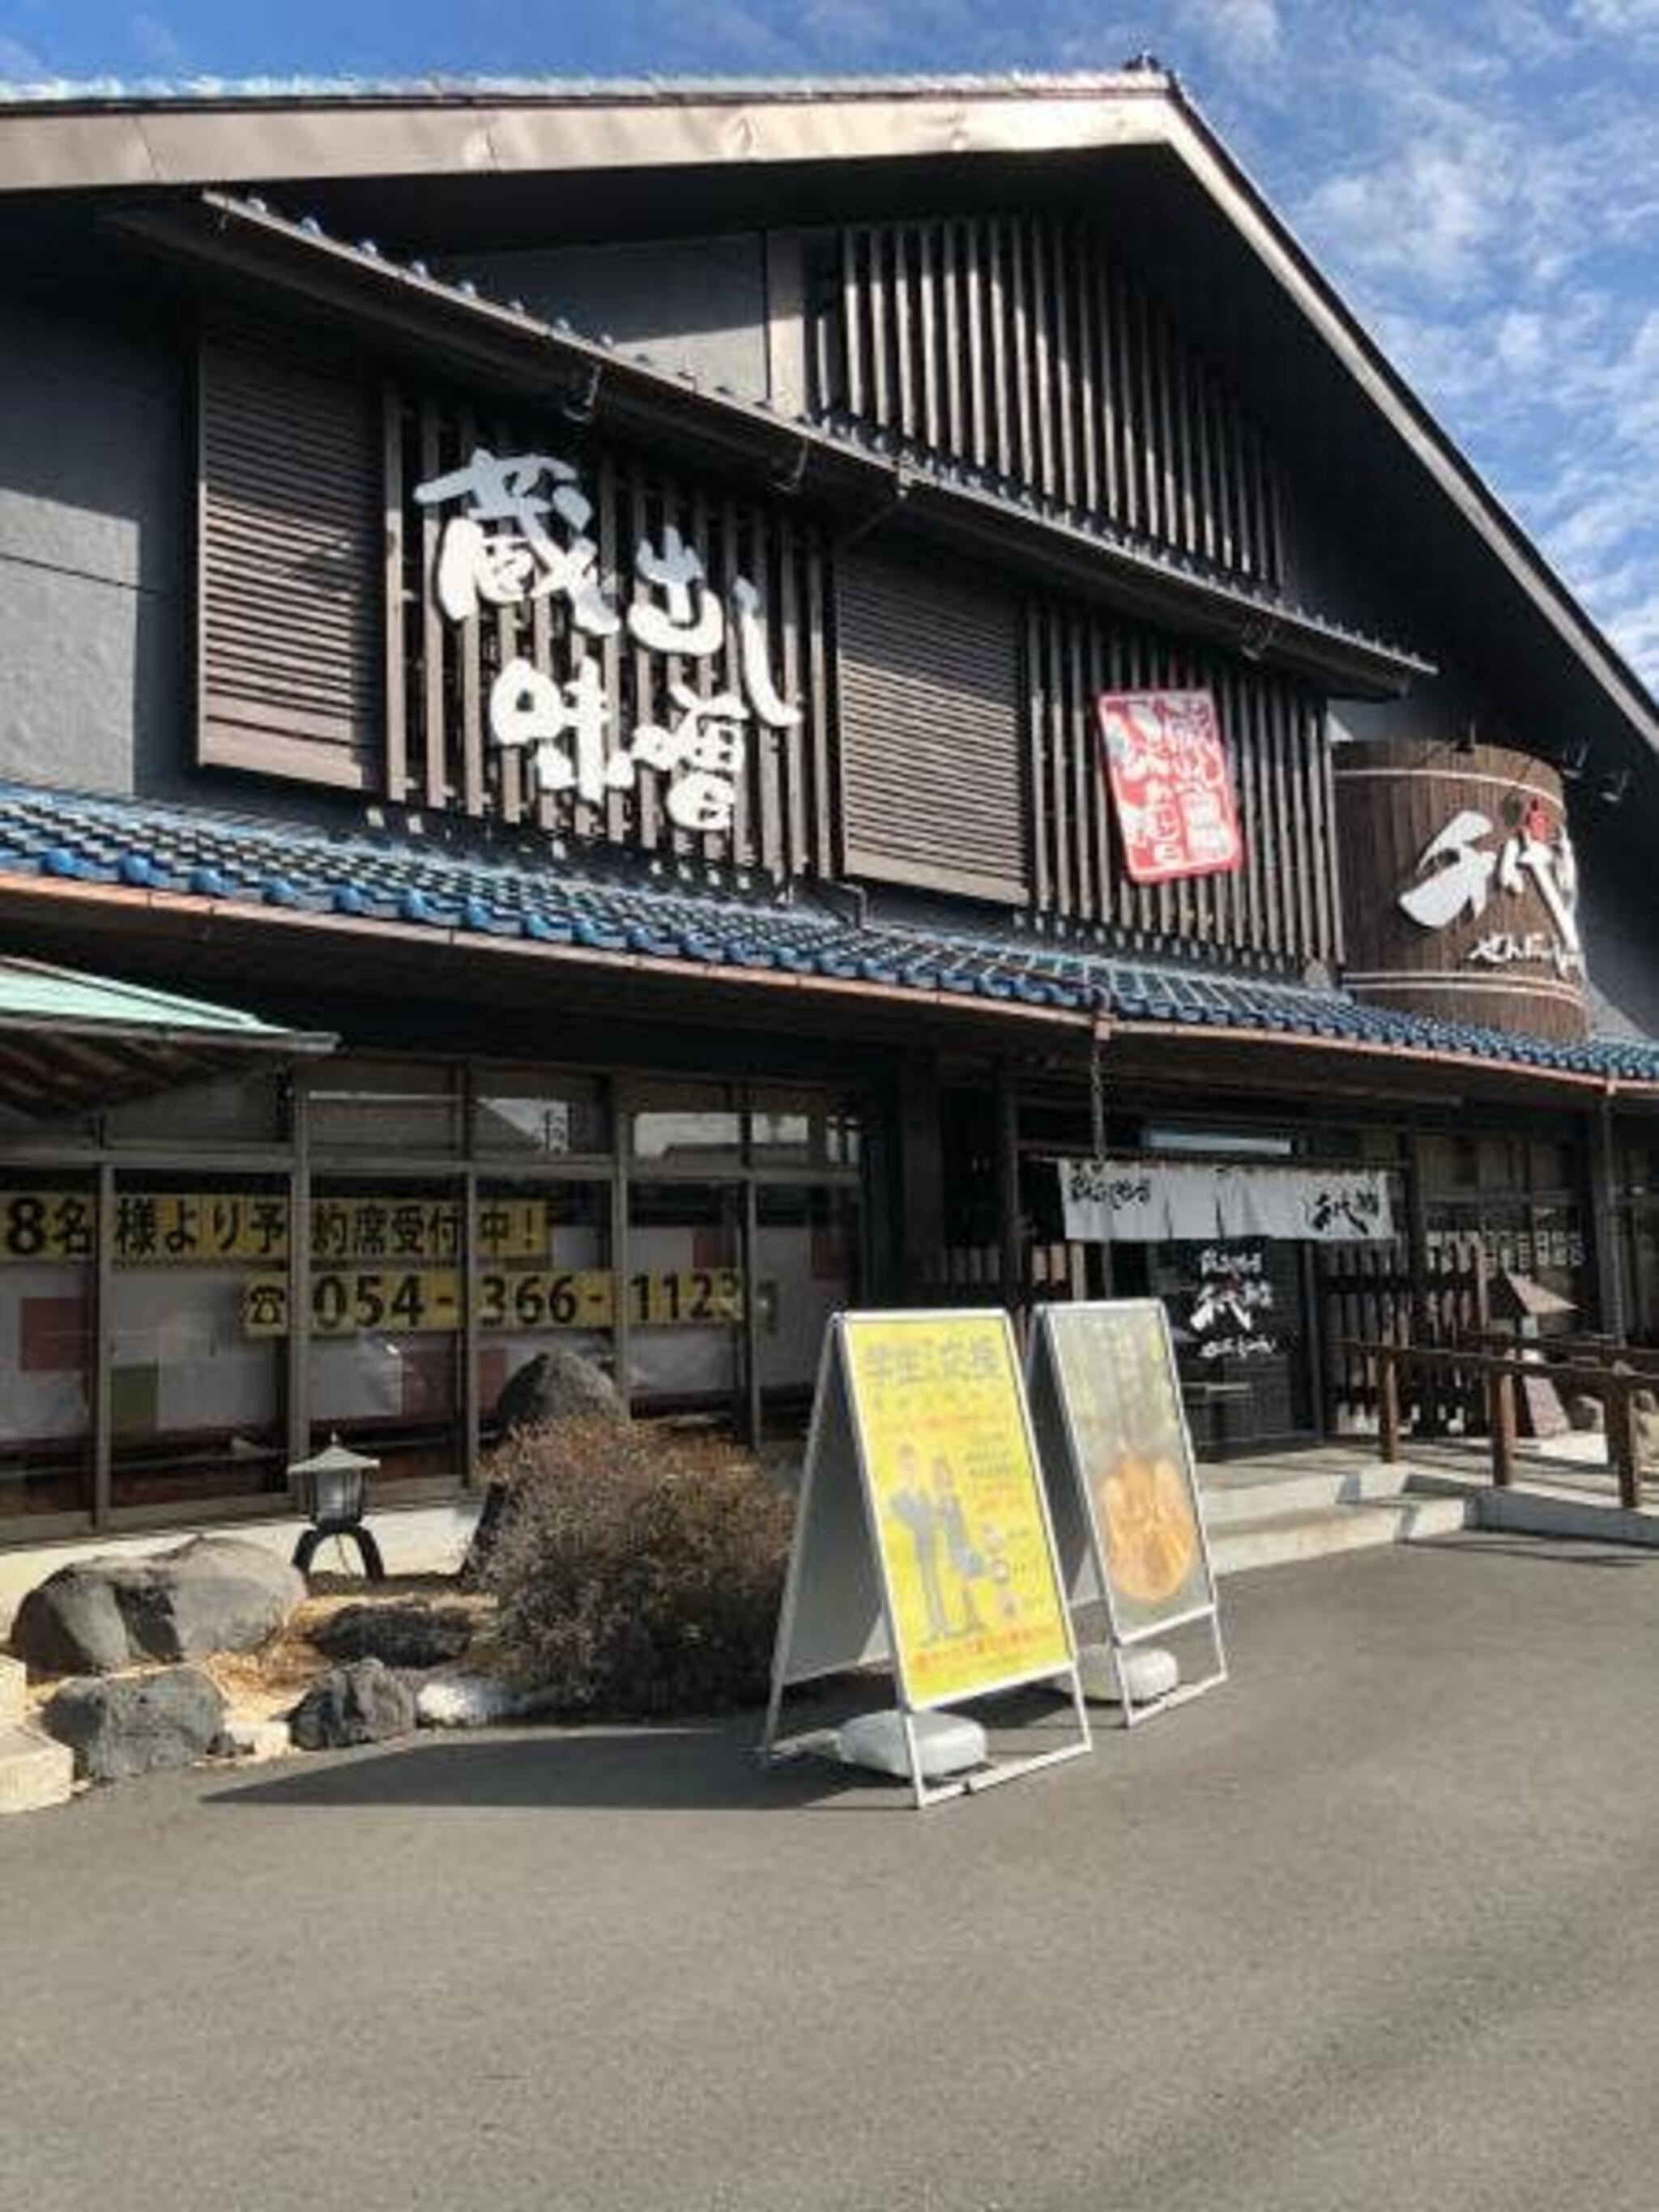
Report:
M1110 1077L1157 1084L1336 1095L1659 1097L1659 1044L1551 1040L1367 1004L1285 973L1214 973L1121 956L1037 929L962 929L867 911L845 894L785 900L741 872L719 885L690 872L639 880L529 847L449 849L365 827L323 830L0 785L0 911L82 942L86 929L139 936L192 973L259 975L299 967L356 973L376 993L484 993L529 969L588 991L728 1020L905 1035L918 1022L995 1024L1033 1051L1106 1042ZM142 927L135 927L142 925ZM237 989L237 982L232 982ZM237 1018L230 1018L237 1020ZM161 1024L166 1026L166 1022ZM246 1033L241 1033L246 1037ZM290 1033L276 1031L285 1044ZM288 1044L288 1048L296 1048ZM303 1048L303 1046L301 1046Z

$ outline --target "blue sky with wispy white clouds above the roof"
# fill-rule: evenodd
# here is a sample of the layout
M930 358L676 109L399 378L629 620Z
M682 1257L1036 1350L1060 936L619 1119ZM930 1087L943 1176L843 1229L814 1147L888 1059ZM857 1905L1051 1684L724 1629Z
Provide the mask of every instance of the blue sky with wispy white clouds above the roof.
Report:
M1113 69L1150 49L1659 688L1659 0L0 0L0 80Z

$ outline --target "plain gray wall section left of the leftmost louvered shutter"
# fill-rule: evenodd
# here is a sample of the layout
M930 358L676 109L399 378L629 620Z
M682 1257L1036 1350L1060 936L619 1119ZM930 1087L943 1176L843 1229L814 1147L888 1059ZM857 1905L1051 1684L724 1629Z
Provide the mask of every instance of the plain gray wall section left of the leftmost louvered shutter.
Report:
M7 303L0 325L0 774L179 776L190 482L164 347Z

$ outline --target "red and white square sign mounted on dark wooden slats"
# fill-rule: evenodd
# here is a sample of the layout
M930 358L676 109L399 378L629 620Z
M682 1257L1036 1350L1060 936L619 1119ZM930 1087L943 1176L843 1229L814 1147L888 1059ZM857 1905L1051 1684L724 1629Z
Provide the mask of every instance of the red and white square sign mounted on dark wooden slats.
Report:
M1102 692L1097 712L1130 880L1239 867L1239 807L1210 692Z

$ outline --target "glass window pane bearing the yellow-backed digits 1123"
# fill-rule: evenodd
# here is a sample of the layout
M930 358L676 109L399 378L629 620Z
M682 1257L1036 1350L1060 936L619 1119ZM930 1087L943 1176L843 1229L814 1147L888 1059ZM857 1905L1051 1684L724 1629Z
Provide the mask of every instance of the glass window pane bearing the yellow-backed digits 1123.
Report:
M741 1190L628 1186L628 1387L635 1413L739 1416Z

